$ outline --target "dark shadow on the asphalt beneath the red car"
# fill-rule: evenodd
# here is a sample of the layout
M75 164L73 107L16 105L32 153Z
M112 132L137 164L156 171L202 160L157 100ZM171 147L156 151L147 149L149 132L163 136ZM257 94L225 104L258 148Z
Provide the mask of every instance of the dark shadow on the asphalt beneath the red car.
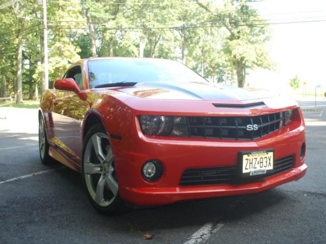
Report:
M74 193L81 194L79 200L82 202L77 209L74 207L74 212L80 211L83 218L96 222L96 225L88 227L95 232L157 234L165 229L178 231L179 228L201 227L212 221L238 222L257 212L274 209L287 198L285 193L271 189L257 194L184 201L143 209L125 208L119 214L104 216L91 207L77 172L67 168L55 173L74 188Z

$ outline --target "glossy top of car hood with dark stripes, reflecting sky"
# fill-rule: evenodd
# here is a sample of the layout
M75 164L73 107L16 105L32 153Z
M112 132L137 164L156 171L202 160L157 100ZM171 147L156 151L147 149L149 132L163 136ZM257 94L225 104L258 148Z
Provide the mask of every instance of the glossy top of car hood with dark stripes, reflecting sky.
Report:
M267 90L208 82L137 83L132 87L120 87L116 90L139 98L158 100L243 101L277 96Z

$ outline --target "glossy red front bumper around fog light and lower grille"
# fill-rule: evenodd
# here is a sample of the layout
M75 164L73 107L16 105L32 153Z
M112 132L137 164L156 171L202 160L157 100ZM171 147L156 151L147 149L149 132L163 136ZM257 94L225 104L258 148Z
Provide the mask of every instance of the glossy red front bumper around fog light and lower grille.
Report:
M256 193L300 179L307 171L305 157L300 157L302 144L306 141L305 127L299 122L253 141L149 137L142 134L137 119L134 128L128 140L115 141L113 145L120 196L134 205L162 205ZM181 175L186 169L235 167L238 151L267 148L274 149L275 160L293 155L293 168L246 184L179 186ZM147 182L141 176L142 165L151 159L159 160L164 167L162 177L155 182Z

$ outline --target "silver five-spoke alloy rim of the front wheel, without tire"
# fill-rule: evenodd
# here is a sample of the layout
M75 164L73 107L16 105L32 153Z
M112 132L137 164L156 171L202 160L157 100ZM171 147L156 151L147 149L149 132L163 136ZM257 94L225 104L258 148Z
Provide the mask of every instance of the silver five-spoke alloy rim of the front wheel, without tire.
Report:
M106 134L95 133L84 154L84 178L91 198L101 207L110 205L118 194L114 159Z

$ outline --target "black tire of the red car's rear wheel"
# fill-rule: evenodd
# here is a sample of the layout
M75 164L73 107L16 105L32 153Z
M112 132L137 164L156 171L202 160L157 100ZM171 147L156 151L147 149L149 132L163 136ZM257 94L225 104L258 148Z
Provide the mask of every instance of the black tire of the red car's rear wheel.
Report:
M49 143L47 141L42 115L39 116L39 153L42 164L49 165L53 162L53 159L49 155Z

